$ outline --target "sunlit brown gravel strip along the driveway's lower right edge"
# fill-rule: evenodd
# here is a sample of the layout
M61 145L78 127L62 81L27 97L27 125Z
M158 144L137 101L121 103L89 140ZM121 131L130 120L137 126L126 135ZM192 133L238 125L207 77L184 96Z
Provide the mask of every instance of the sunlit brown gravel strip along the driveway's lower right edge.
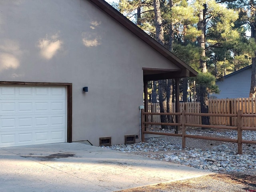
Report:
M254 179L254 178L250 178ZM131 188L119 192L256 192L246 176L214 174L152 186Z

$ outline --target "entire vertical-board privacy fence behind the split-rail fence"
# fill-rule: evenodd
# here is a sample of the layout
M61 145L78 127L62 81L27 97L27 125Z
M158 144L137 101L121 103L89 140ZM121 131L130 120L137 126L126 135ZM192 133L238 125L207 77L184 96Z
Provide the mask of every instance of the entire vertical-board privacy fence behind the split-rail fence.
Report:
M237 114L238 110L241 110L243 114L256 114L256 98L209 99L208 104L211 114ZM175 103L172 103L172 109L175 109ZM180 111L182 110L185 110L186 113L200 113L200 103L180 102ZM148 112L159 113L159 103L148 104ZM242 120L245 126L256 127L255 118L243 117ZM161 122L160 116L151 115L149 121ZM186 121L192 124L201 124L201 116L186 116ZM217 124L236 126L236 117L210 116L210 125Z

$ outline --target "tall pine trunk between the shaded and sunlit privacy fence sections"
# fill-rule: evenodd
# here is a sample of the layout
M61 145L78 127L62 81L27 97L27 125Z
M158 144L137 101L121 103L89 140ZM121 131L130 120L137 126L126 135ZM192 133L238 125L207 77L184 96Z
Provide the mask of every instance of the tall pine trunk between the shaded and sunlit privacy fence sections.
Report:
M199 20L198 20L198 30L200 31L200 36L198 37L198 44L201 48L201 57L200 57L200 68L202 73L207 72L206 68L206 54L205 54L205 13L206 13L206 4L203 4L203 9L199 11ZM206 86L200 85L200 107L201 113L208 113L208 94ZM202 116L202 124L210 124L209 117Z

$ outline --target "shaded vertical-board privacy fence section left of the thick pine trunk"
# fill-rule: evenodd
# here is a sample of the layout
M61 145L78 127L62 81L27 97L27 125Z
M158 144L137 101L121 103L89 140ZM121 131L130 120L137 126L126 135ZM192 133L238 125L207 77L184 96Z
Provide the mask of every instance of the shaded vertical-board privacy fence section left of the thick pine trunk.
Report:
M200 113L200 103L199 102L180 102L180 111L185 110L188 113ZM150 113L160 113L159 103L149 103L148 112ZM175 102L172 103L172 112L175 112ZM161 122L160 115L148 115L148 121L150 122ZM186 116L186 121L192 124L200 124L200 116ZM176 119L174 118L174 122Z

